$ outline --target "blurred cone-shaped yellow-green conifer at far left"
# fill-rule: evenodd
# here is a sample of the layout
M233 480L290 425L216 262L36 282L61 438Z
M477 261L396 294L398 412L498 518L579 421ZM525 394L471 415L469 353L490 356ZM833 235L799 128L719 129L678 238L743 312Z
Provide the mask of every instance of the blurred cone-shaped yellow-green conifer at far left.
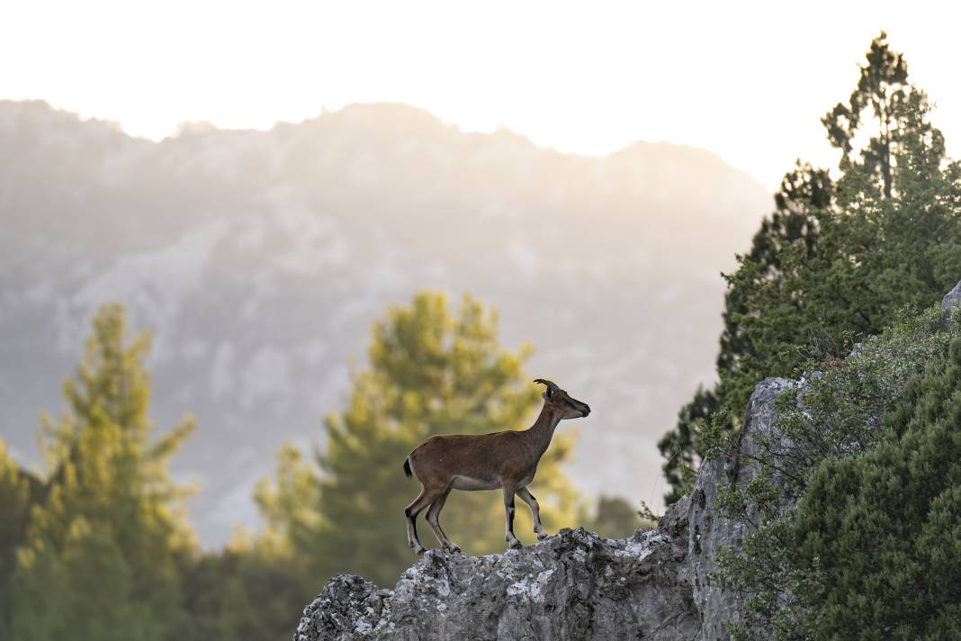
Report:
M24 641L164 639L181 621L179 562L193 549L167 461L193 429L151 440L146 334L104 306L77 370L68 410L44 419L49 476L12 578L11 626Z

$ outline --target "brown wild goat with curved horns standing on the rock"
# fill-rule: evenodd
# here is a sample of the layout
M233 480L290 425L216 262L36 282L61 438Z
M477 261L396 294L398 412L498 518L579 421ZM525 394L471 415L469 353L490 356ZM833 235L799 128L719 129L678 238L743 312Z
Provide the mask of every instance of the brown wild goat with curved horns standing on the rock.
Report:
M434 435L418 445L404 461L404 472L411 472L423 485L420 496L404 510L407 516L407 544L418 555L425 548L417 538L417 515L430 505L427 520L437 540L451 554L460 552L440 529L440 510L452 489L494 490L504 488L506 516L505 541L520 548L514 536L514 495L528 504L538 540L548 537L540 522L540 508L528 490L537 472L537 462L551 444L554 429L565 418L587 416L591 408L567 395L553 382L537 379L547 386L544 407L534 424L524 431L494 431L489 434Z

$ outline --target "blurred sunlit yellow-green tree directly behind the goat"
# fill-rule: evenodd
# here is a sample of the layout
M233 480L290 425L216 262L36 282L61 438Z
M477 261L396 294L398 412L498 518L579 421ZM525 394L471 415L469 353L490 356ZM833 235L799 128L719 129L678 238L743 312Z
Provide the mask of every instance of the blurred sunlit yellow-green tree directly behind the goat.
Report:
M393 584L414 560L404 507L418 494L404 477L404 458L432 434L486 433L527 427L538 390L524 370L530 347L506 351L497 316L467 296L452 313L442 294L422 292L391 308L373 329L370 367L357 372L348 407L325 422L327 448L316 474L292 448L278 479L261 484L261 513L307 565L314 583L337 572ZM554 436L534 493L548 528L573 525L576 497L559 469L571 438ZM533 541L530 515L515 530ZM456 492L442 514L444 530L469 554L504 549L504 506L496 492ZM421 520L425 543L431 536Z

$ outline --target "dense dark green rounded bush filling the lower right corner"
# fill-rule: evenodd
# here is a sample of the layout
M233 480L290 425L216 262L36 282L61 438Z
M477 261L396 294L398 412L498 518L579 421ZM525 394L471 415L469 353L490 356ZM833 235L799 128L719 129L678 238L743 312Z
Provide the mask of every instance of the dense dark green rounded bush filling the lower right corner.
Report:
M883 433L811 475L791 532L805 587L792 605L816 639L959 638L961 338L905 387Z

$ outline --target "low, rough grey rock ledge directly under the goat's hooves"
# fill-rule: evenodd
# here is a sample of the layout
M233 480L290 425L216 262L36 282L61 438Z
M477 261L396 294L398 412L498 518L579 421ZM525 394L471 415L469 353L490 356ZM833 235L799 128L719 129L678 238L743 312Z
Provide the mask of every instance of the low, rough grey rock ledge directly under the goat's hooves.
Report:
M691 639L701 617L678 577L683 543L659 530L604 539L578 529L504 555L431 550L393 590L334 577L294 638Z

